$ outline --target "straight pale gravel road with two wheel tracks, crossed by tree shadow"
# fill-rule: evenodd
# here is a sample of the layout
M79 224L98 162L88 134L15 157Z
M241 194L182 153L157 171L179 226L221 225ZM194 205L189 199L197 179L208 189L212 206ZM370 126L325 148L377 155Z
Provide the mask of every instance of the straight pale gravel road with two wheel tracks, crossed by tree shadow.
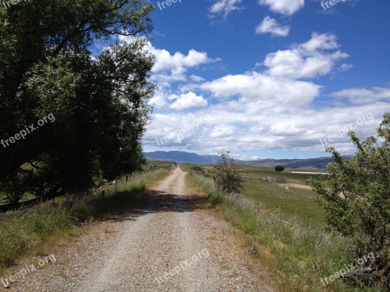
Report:
M56 247L55 263L7 291L274 291L248 270L231 225L190 207L185 175L174 169L142 208Z

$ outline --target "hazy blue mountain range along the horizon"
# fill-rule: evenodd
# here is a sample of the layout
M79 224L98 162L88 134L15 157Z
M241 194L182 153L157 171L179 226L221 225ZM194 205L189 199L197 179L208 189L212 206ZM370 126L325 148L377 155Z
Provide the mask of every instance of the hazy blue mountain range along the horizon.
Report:
M218 155L198 155L185 151L155 151L145 152L148 160L174 161L176 163L215 164L220 157ZM352 159L352 156L343 156L343 159ZM332 162L331 157L319 157L310 159L259 159L253 161L237 160L237 163L251 166L275 167L283 165L286 168L325 169Z

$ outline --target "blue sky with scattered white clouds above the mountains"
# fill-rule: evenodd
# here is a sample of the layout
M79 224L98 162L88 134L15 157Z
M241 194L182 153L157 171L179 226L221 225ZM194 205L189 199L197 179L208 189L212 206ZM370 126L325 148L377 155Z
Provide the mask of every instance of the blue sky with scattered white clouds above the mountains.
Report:
M390 111L389 0L152 2L146 152L354 154Z

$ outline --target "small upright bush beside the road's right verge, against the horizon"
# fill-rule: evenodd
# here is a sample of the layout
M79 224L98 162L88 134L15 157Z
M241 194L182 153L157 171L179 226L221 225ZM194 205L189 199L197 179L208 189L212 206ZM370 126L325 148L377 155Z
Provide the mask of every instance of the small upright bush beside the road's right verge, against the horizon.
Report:
M229 151L228 153L218 153L221 155L221 161L214 166L217 173L215 183L224 193L240 193L243 189L243 180L229 153Z

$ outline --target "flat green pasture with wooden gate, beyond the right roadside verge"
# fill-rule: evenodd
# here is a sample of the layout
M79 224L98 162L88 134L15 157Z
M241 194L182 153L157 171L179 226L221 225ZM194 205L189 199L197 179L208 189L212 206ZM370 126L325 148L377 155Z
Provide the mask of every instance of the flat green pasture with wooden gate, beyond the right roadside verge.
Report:
M206 176L214 176L215 173L207 173L207 170L213 170L214 165L195 165L186 164L189 168L194 166L200 166L206 172ZM306 181L310 177L317 178L323 182L326 182L326 178L320 179L319 175L309 174L295 174L292 171L301 172L325 172L323 170L312 169L285 169L283 172L276 172L272 167L256 167L256 166L244 166L240 169L245 172L242 173L245 178L244 192L243 194L253 199L254 201L261 202L261 205L265 209L269 209L270 212L278 210L286 215L296 215L303 224L310 225L312 227L320 227L325 224L325 213L320 206L314 201L316 194L310 189L303 189L290 184L306 186ZM248 172L248 174L246 173ZM279 186L275 183L269 183L268 181L260 181L260 178L266 177L283 178L287 179L288 189ZM252 181L251 181L252 179ZM285 184L283 184L285 185Z

